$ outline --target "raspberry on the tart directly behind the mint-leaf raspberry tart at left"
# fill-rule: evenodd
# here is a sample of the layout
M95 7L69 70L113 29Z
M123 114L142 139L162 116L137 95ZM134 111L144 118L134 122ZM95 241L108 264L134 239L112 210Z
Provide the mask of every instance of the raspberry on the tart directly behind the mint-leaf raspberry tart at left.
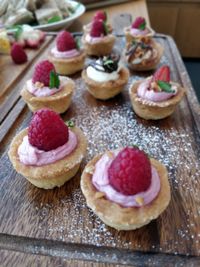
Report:
M68 51L76 48L76 42L70 32L61 31L56 38L58 51Z

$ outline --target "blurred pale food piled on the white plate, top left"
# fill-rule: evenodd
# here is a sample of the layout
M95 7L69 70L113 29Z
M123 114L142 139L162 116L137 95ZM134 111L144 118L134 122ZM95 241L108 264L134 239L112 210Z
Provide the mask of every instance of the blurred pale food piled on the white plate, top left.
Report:
M42 25L68 18L75 9L67 0L0 0L0 22Z

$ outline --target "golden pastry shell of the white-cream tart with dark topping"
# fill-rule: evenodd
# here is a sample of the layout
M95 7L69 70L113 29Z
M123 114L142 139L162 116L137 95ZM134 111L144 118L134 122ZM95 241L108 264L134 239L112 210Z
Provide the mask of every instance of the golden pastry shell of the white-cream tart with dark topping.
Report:
M87 84L87 90L97 99L106 100L118 95L128 82L129 71L122 68L119 78L108 82L96 82L87 76L86 70L82 71L82 78Z

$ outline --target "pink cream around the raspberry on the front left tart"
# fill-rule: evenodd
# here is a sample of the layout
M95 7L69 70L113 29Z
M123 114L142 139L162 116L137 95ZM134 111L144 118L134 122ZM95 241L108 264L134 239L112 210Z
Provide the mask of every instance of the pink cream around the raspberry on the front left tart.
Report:
M77 146L78 140L72 131L69 130L69 140L66 144L50 151L39 150L29 143L28 136L24 136L18 147L18 156L24 165L43 166L54 163L69 155Z

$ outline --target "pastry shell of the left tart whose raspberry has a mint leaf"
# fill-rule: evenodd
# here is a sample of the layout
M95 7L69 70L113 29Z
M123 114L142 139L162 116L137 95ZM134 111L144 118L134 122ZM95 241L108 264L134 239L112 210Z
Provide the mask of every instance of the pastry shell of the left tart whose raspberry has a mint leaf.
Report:
M74 88L74 82L68 78L67 83L63 86L63 89L54 95L44 97L34 96L27 90L27 86L25 85L21 91L21 96L32 112L46 107L56 111L57 113L63 113L71 104Z

